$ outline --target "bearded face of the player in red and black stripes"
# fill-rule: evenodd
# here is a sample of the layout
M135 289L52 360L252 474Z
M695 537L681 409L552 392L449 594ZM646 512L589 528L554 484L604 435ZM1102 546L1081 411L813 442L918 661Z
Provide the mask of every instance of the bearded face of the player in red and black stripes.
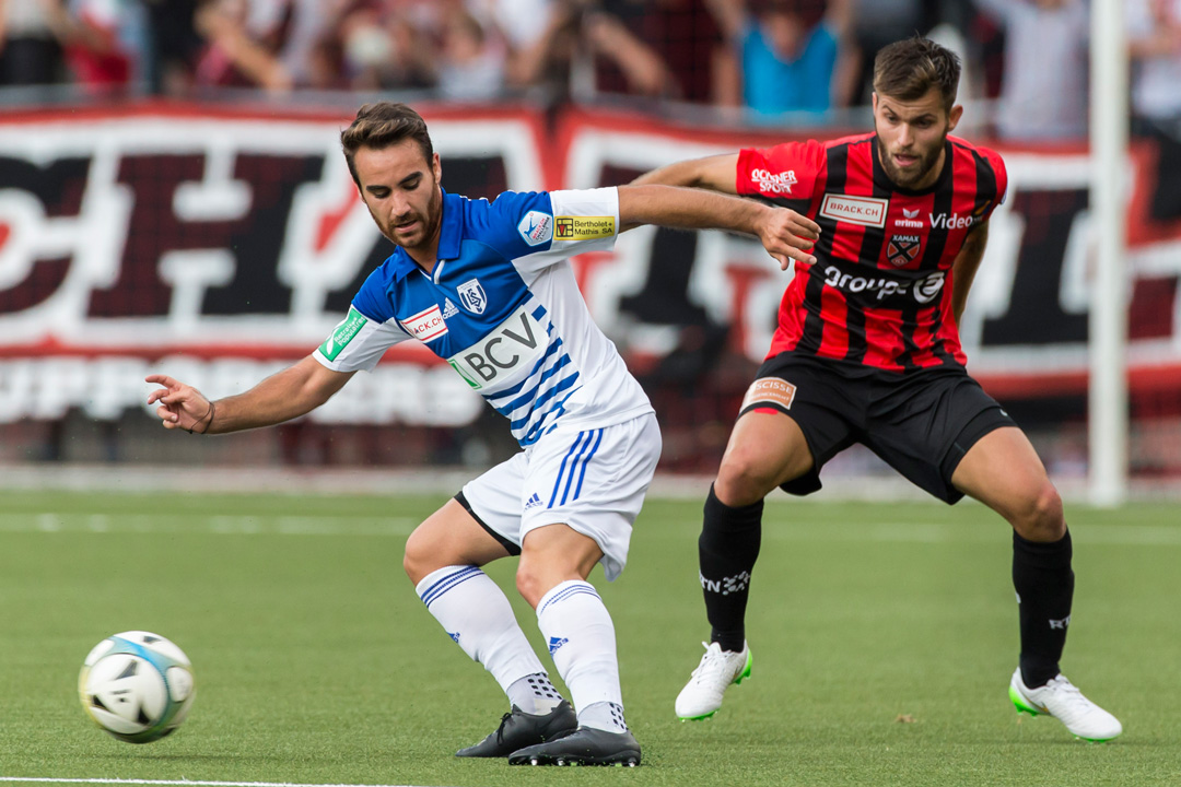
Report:
M903 189L934 184L942 171L947 135L961 112L963 107L954 106L948 113L934 87L913 101L874 93L877 160L889 179Z

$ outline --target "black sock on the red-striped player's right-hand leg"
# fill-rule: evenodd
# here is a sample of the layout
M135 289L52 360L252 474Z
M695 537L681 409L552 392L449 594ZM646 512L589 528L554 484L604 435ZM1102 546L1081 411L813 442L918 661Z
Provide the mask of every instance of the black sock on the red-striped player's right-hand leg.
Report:
M1070 569L1070 532L1053 543L1029 542L1013 531L1013 588L1022 629L1022 680L1045 686L1058 674L1066 644L1075 572Z

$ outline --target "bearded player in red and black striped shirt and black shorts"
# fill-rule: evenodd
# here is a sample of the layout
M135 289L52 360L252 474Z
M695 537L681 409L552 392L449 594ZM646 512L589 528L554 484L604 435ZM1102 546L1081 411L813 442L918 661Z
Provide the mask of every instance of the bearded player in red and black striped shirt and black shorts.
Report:
M874 63L874 133L787 143L665 166L637 179L761 197L815 221L770 353L743 401L698 542L711 642L677 697L705 719L750 674L744 616L763 498L820 488L861 442L931 494L980 500L1013 527L1020 658L1009 695L1076 736L1118 720L1059 671L1075 576L1062 500L1029 439L965 369L958 323L1005 198L1000 156L948 136L959 59L922 38Z

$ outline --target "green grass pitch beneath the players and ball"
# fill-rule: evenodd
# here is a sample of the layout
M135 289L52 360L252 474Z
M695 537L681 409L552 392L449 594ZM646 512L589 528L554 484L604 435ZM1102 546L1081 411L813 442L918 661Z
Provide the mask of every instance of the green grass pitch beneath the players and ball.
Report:
M650 500L624 576L592 576L615 621L645 765L559 772L452 756L507 708L402 572L406 534L444 499L0 493L0 776L1181 783L1176 506L1068 511L1077 591L1063 667L1125 729L1097 746L1009 704L1010 534L971 503L776 497L748 621L753 674L713 720L678 722L673 697L707 634L700 501ZM489 573L541 650L514 563ZM128 629L170 637L196 673L188 722L148 746L106 736L77 700L83 657Z

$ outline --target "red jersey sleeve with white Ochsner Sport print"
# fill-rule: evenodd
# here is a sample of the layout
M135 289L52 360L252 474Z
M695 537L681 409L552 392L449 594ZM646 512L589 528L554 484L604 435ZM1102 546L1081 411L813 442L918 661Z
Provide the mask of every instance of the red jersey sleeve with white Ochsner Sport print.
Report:
M738 151L736 190L803 212L821 183L827 155L827 149L816 140L746 147Z

